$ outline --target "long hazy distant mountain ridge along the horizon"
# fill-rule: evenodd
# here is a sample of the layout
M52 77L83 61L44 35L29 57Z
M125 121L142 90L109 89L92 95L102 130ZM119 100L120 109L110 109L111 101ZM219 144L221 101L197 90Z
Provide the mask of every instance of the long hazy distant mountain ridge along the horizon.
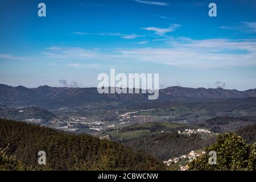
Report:
M210 100L225 98L256 97L256 89L246 91L228 90L222 88L183 88L171 86L159 90L158 100L148 101L148 94L100 94L97 88L56 88L39 86L26 88L24 86L9 86L0 84L0 104L5 105L35 105L44 109L60 107L98 107L113 104L131 104L133 102L165 102ZM96 106L97 105L97 106Z

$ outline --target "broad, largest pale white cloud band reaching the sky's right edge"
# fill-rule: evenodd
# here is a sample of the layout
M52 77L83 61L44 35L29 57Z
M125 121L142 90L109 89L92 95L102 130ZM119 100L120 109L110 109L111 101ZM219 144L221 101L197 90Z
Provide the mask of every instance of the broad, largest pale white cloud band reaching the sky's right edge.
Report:
M253 39L179 38L166 43L169 47L120 49L118 58L195 68L256 65L256 40Z

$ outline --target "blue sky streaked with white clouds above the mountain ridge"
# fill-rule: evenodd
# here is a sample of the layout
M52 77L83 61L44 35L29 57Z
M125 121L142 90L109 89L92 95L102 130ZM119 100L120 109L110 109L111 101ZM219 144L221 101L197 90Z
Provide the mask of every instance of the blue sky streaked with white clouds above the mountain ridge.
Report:
M159 73L160 88L256 88L256 1L0 1L0 83L97 86L110 68Z

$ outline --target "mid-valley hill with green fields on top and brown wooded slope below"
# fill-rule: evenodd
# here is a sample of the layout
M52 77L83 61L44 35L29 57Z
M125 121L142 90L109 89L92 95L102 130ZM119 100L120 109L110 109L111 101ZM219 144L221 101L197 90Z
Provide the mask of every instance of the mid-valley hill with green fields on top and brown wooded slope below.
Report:
M109 133L105 135L108 134L110 139L130 146L135 151L147 152L160 160L175 158L192 150L208 147L216 140L216 134L180 135L178 133L185 129L195 129L195 127L179 123L147 122L123 127L118 134L113 133L113 129L109 129ZM143 131L144 134L140 134Z

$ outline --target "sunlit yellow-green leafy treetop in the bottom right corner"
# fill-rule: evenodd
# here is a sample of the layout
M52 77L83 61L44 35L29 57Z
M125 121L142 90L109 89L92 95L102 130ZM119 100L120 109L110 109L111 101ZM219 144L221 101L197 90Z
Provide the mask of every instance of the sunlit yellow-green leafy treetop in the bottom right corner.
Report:
M210 165L210 151L217 153L217 164ZM234 133L218 135L205 154L189 163L190 170L256 170L255 144L250 146Z

